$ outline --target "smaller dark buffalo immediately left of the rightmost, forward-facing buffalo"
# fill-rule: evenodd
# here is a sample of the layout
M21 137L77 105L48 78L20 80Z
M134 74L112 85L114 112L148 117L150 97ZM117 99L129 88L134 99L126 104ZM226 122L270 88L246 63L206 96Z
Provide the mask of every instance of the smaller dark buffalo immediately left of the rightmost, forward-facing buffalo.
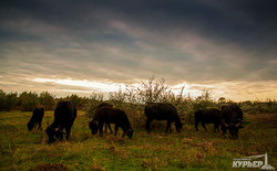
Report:
M220 125L220 110L216 108L211 108L211 109L201 109L195 111L195 128L198 130L197 126L198 122L201 121L203 128L205 130L205 124L214 124L214 132L218 130L218 127Z

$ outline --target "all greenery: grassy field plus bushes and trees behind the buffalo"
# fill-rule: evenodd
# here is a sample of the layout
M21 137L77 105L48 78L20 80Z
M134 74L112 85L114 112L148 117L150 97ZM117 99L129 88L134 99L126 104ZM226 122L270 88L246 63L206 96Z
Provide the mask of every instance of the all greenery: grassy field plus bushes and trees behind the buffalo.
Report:
M78 106L70 141L48 145L44 129L53 121L53 108L61 99L71 99ZM94 116L95 107L103 100L123 109L134 128L133 138L121 138L109 131L103 137L92 135L88 121ZM144 129L144 105L150 101L173 104L181 116L184 128L165 133L164 121L153 121L153 131ZM194 127L194 111L232 103L224 97L215 100L211 92L189 97L174 94L165 81L142 82L140 87L127 87L111 93L109 99L103 94L92 94L90 98L71 95L55 98L48 92L4 93L0 90L0 169L38 170L43 168L68 170L232 170L233 159L268 153L269 164L277 161L277 104L275 100L238 103L244 111L245 128L238 140L229 140L213 132L207 125L204 131ZM43 130L28 131L29 121L35 106L47 111L42 121ZM113 127L112 127L113 128Z

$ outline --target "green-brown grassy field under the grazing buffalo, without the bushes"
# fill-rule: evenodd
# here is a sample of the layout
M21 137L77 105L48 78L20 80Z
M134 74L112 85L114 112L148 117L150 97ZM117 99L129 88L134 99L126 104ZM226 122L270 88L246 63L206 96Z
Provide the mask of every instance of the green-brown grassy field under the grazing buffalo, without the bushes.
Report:
M89 118L79 111L70 141L49 146L44 130L27 130L31 113L0 113L0 169L37 170L50 165L69 170L232 170L233 159L268 153L268 162L277 168L277 115L247 115L248 124L238 140L193 125L184 125L181 133L165 133L165 124L146 133L135 129L133 139L110 133L91 135ZM51 124L47 111L42 127ZM55 165L54 165L55 164Z

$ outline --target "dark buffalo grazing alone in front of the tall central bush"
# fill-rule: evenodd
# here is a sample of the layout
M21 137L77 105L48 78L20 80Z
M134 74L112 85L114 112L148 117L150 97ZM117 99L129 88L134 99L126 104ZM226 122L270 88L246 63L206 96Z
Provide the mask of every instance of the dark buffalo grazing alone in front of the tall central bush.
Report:
M153 119L167 120L166 130L165 130L166 132L168 129L170 129L170 132L172 132L171 124L175 121L176 130L181 132L183 124L181 122L177 110L173 105L162 104L162 103L150 103L145 106L144 113L147 117L145 128L148 133L151 131L150 124Z

